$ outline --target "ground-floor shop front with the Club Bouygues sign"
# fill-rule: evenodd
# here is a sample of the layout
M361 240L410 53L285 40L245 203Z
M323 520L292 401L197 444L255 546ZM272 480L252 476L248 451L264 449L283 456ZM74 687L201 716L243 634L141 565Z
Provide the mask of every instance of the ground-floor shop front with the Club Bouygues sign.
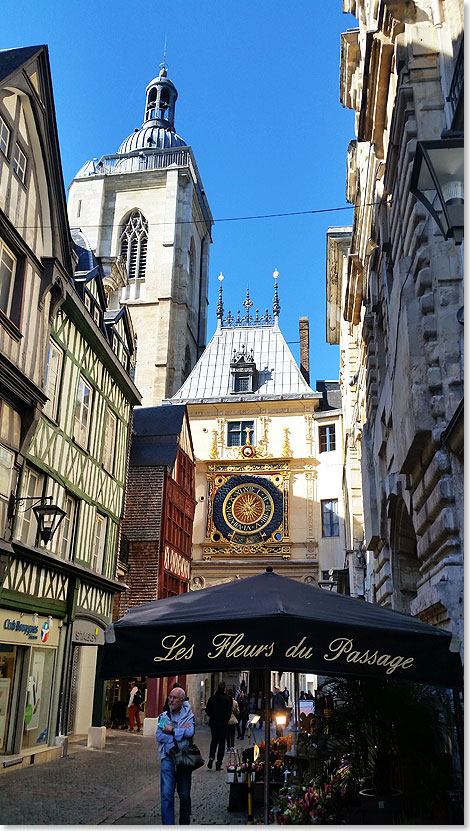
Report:
M55 743L62 621L0 609L0 764ZM60 755L61 748L57 748ZM3 757L3 758L2 758ZM13 763L13 759L11 759Z

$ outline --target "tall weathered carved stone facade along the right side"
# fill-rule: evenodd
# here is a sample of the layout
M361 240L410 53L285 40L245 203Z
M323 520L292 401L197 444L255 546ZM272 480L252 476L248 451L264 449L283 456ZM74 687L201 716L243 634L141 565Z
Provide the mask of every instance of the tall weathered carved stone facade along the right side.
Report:
M346 186L355 210L334 302L357 344L343 388L356 385L364 402L350 406L362 434L366 593L462 640L463 257L410 178L417 141L456 129L463 2L343 9L359 20L341 53L341 101L356 111Z

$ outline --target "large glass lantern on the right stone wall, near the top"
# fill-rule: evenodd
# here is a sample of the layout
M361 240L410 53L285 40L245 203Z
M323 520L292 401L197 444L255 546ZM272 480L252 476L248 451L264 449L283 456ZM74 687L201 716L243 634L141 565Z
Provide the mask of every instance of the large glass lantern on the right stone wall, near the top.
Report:
M445 239L463 240L463 138L418 141L411 174L411 193L427 208Z

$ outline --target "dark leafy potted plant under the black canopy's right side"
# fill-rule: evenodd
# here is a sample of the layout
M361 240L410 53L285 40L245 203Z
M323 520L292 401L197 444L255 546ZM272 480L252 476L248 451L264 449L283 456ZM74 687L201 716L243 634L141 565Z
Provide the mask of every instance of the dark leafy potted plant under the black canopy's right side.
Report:
M445 691L392 679L341 678L329 741L352 763L364 821L390 823L407 805L430 809L450 773ZM429 811L428 811L429 813Z

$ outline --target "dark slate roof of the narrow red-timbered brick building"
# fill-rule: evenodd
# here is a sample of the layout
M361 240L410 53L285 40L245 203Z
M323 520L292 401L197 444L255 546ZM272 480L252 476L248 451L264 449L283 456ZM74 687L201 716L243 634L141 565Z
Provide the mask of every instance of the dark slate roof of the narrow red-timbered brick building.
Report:
M173 467L185 411L184 404L134 409L131 467Z

